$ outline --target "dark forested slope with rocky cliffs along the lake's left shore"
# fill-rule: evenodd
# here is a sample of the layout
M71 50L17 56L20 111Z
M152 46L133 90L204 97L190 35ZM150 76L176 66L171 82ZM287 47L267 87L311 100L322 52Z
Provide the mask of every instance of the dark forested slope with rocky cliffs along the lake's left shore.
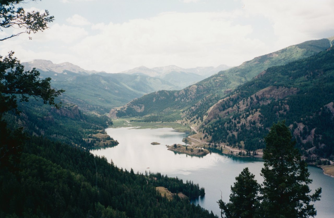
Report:
M87 149L100 144L118 144L112 138L102 140L95 136L104 133L104 129L113 124L107 116L83 112L75 104L65 103L57 110L40 101L18 102L18 110L20 115L9 112L4 119L11 129L22 127L29 136L45 137Z

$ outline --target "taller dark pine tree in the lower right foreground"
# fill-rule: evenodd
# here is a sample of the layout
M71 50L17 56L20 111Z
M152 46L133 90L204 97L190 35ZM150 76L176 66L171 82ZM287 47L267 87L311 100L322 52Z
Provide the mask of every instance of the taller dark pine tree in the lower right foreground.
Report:
M314 217L310 202L320 200L321 188L309 195L310 173L285 121L274 124L265 141L262 217Z

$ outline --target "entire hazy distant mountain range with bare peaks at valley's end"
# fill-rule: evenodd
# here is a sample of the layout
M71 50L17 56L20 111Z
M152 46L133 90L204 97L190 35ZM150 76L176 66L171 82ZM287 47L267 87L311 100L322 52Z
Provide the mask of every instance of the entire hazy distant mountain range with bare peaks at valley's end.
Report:
M184 88L200 81L204 75L227 67L138 67L125 71L127 73L106 73L85 70L69 62L54 64L37 59L22 64L26 70L36 68L41 78L51 77L52 87L66 90L62 95L65 102L99 113L108 113L110 108L122 106L150 92Z

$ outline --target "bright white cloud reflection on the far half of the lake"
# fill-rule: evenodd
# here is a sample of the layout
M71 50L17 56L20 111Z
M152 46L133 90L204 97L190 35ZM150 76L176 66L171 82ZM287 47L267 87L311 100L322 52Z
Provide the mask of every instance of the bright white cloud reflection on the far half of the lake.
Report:
M172 128L160 129L107 129L106 132L120 143L108 149L91 151L93 154L105 156L107 160L122 168L137 172L163 172L164 174L188 175L198 169L207 169L219 161L222 156L200 158L168 151L166 145L184 144L182 139L187 135L176 132ZM151 145L158 142L160 145ZM194 161L196 159L197 161Z

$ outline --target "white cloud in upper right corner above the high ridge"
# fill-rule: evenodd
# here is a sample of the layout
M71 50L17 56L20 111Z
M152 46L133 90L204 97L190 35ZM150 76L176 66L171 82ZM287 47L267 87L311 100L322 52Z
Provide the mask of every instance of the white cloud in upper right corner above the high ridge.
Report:
M245 13L269 19L278 46L334 35L334 1L244 0ZM325 34L326 33L326 34ZM265 33L264 33L265 34Z

